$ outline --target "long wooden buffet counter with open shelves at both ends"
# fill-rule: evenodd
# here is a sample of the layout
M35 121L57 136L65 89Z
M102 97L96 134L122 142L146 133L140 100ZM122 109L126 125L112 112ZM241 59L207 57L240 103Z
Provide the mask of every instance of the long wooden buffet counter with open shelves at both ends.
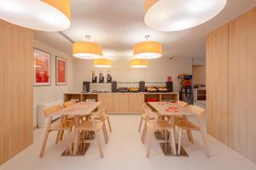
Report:
M175 102L178 93L66 93L64 101L71 99L79 101L99 101L108 109L110 114L140 114L142 104L147 101Z

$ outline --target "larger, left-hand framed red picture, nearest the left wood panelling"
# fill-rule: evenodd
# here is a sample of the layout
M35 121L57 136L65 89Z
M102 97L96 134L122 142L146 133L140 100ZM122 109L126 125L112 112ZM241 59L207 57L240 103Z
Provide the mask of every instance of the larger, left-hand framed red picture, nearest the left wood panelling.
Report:
M34 86L50 86L50 54L34 48Z

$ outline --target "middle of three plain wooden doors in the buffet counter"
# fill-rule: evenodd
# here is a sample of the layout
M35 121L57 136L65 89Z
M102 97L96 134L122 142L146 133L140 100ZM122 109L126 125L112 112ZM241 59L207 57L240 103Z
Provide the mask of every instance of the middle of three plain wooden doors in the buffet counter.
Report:
M113 94L113 113L128 112L128 94Z

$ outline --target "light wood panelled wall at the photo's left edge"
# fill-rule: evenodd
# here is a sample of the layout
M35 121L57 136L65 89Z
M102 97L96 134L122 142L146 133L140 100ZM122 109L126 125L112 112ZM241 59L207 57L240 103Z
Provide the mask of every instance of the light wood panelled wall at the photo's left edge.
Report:
M0 20L0 164L32 144L31 30Z

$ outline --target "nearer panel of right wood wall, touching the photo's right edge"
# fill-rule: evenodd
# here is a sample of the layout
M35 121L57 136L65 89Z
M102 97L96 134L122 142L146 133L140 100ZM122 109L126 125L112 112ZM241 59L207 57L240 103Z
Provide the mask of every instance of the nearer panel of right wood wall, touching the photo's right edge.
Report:
M230 22L230 147L256 162L256 8Z

